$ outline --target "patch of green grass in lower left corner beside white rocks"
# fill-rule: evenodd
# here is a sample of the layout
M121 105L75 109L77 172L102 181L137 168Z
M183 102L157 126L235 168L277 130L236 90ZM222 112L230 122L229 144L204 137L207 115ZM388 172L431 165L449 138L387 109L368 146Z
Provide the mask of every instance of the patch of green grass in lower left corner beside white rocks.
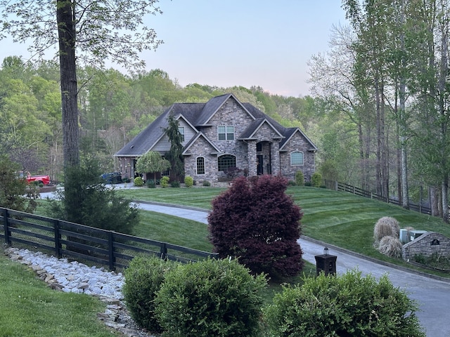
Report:
M105 310L97 298L54 291L3 255L0 270L0 337L120 336L97 319Z

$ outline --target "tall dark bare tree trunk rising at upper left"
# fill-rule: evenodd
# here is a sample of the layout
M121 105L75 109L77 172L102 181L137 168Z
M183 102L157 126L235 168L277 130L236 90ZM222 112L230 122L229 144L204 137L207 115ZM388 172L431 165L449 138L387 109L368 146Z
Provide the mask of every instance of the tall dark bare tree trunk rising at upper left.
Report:
M63 112L64 166L79 164L79 130L77 107L77 68L75 60L75 4L56 1L58 24L61 103Z

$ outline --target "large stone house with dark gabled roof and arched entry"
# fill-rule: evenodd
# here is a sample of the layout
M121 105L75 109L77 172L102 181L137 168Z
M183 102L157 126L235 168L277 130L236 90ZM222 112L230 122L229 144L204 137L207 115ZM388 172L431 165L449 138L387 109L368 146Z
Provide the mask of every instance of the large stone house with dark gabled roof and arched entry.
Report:
M248 176L273 174L290 180L297 171L307 181L314 173L318 149L300 128L285 128L229 93L207 103L174 103L115 154L123 177L134 176L142 154L169 151L164 131L169 115L178 121L184 139L185 175L196 181L217 181L230 167Z

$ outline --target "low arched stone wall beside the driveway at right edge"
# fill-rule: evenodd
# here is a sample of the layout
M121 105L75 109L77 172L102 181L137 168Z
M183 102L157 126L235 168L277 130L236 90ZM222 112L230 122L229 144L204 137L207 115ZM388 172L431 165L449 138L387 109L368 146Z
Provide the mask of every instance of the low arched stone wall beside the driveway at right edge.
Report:
M421 255L430 257L437 253L439 256L450 256L450 238L438 232L427 232L417 239L404 244L401 248L401 257L404 260L413 259Z

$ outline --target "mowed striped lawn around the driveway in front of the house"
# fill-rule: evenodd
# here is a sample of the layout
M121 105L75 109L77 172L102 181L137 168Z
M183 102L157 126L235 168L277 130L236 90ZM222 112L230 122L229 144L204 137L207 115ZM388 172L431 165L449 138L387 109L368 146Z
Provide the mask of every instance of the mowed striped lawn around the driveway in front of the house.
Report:
M150 189L143 187L137 190L120 190L120 193L134 200L159 201L167 204L211 209L212 199L224 190L224 188L217 187L193 187L189 189L171 187ZM373 227L377 220L383 216L396 218L401 227L414 227L416 230L440 232L450 237L450 226L446 225L442 219L402 209L399 206L386 204L382 201L359 197L348 192L336 192L315 187L288 187L287 193L293 197L295 203L300 206L304 213L301 220L302 234L379 260L411 267L403 260L389 258L373 248ZM153 215L153 217L159 218L160 216ZM170 230L167 231L165 231L165 228L160 228L159 225L153 226L148 216L145 216L145 218L145 223L139 225L139 233L144 237L153 239L151 235L155 235L161 241L208 250L205 249L209 244L206 226L197 225L193 227L193 230L188 230L189 235L186 236L179 234L180 228L186 231L186 225L182 225L178 218L169 220L169 216L162 216L165 221L171 223L168 227ZM183 220L183 223L188 223L188 221ZM149 234L151 233L150 236L146 235L146 231ZM193 242L191 235L192 237L195 235ZM196 246L193 247L191 244ZM205 248L198 248L200 246ZM417 269L416 267L411 268ZM423 271L430 272L429 270ZM449 275L441 272L432 273L449 277Z

